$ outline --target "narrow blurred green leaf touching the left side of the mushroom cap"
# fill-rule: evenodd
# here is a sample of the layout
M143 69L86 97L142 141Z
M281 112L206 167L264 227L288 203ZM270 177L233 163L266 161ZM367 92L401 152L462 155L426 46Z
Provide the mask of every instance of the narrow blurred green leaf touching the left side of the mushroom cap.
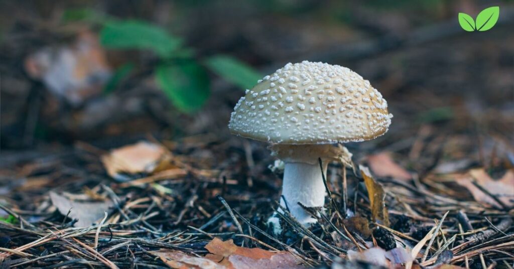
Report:
M263 77L246 63L230 56L215 55L208 58L205 64L218 76L245 89L251 88Z

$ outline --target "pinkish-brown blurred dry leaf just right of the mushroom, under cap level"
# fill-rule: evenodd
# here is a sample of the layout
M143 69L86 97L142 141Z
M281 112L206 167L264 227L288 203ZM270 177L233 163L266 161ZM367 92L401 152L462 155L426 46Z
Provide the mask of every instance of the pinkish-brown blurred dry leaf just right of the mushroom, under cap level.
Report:
M410 180L412 175L396 164L389 152L381 152L368 157L370 168L378 176L390 176L399 180Z

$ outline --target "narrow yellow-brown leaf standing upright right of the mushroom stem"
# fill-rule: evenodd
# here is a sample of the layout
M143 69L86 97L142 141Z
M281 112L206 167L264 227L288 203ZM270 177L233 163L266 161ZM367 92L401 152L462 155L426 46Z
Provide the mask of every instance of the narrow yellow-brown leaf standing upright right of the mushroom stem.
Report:
M364 184L368 189L368 195L371 205L371 216L375 222L389 227L389 215L386 207L386 192L382 185L376 182L370 173L368 167L359 166Z

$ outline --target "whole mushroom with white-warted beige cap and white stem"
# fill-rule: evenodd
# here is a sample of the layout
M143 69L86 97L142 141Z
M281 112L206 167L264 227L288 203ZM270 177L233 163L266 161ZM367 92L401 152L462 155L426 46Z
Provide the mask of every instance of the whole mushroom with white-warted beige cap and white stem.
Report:
M271 144L272 155L285 163L281 205L309 226L316 219L301 205L323 207L327 164L351 163L346 148L333 144L383 135L392 117L382 95L354 71L303 61L288 63L247 89L234 107L229 129Z

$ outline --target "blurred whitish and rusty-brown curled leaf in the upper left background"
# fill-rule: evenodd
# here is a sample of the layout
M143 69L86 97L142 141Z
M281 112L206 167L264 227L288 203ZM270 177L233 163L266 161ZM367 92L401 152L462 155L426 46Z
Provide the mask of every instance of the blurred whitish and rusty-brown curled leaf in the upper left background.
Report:
M74 44L36 51L25 60L25 70L74 105L100 94L111 78L98 37L89 31L80 33Z

